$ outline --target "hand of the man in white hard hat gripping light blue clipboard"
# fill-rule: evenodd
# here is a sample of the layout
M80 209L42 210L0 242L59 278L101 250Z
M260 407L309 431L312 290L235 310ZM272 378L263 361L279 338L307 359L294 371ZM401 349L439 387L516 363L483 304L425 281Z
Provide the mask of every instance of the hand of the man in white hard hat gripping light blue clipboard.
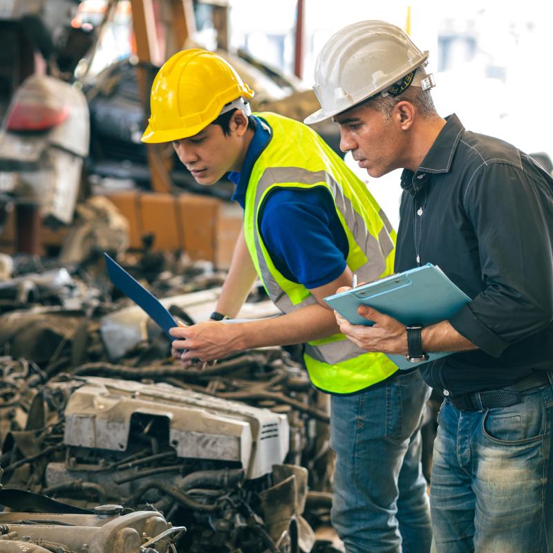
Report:
M350 288L339 288L338 292L346 290ZM373 321L373 326L351 324L335 312L340 332L355 345L367 351L407 355L407 331L404 324L368 306L359 307L357 312L365 319Z

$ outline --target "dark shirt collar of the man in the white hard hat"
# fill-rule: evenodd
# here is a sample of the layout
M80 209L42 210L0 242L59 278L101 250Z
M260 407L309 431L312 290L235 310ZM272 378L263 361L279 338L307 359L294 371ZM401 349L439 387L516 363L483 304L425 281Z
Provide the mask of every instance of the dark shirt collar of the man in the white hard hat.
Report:
M453 155L458 147L465 127L462 126L455 113L445 118L446 124L434 140L431 148L422 160L420 167L415 173L411 169L404 169L402 172L402 188L415 192L429 180L431 174L449 173Z

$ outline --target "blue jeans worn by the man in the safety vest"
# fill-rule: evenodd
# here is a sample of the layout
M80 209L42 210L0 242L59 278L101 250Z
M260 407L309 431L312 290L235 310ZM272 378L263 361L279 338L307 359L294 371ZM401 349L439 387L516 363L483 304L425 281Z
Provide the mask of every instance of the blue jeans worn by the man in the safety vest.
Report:
M428 553L431 526L420 464L430 388L420 371L355 395L333 395L332 525L348 553Z

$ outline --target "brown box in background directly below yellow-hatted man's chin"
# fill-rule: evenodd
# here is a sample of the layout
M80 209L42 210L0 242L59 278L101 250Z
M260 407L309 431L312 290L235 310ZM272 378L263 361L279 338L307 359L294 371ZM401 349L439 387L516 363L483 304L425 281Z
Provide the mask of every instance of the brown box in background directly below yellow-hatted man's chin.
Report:
M182 228L182 249L191 259L214 261L221 200L198 194L181 194L176 201Z

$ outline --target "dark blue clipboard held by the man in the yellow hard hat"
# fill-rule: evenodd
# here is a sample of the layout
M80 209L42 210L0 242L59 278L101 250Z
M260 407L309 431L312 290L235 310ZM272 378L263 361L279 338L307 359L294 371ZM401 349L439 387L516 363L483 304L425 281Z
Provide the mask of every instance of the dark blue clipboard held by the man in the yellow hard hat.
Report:
M148 292L144 286L138 281L133 279L131 275L124 270L116 261L113 261L111 257L104 252L104 260L106 261L106 268L108 270L109 279L113 282L115 287L119 288L126 296L131 298L137 306L142 308L144 312L153 319L153 321L162 328L172 341L175 337L169 334L169 328L177 326L173 315L167 311L162 303L153 295Z

